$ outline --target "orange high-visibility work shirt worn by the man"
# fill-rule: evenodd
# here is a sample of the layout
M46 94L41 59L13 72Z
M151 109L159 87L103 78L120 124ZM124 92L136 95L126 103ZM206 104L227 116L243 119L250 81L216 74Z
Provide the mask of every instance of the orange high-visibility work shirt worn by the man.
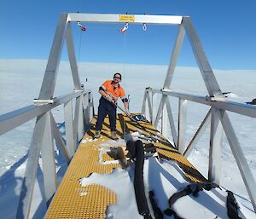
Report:
M117 101L119 97L122 99L122 101L126 101L125 90L121 85L114 87L113 80L105 81L100 89L103 89L109 96L113 98L114 101Z

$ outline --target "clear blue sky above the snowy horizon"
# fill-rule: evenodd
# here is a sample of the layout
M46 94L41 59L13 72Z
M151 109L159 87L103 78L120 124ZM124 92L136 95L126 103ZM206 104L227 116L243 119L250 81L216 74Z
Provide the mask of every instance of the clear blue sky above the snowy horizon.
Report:
M60 14L65 12L110 14L189 15L212 68L256 69L256 1L9 1L0 3L0 59L48 59ZM86 32L73 25L78 61L167 65L177 26L86 24ZM81 39L81 40L80 40ZM63 61L67 60L64 47ZM196 66L185 38L179 66Z

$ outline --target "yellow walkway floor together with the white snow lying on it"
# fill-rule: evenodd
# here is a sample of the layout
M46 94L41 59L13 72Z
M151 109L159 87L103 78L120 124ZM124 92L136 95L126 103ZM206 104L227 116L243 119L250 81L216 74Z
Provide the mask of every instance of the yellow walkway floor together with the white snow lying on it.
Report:
M142 140L140 137L148 133L129 118L119 115L119 141L109 138L107 119L101 138L93 140L95 122L80 142L45 218L143 218L137 210L133 187L134 162L124 168L120 160L109 156L109 153L114 147L125 149L127 140ZM151 124L141 124L149 128L152 134L160 136ZM145 158L145 192L148 196L149 191L154 191L157 204L163 211L168 207L168 199L173 193L191 182L203 182L206 179L163 138L153 143L158 156ZM203 190L197 197L188 195L177 199L172 209L183 218L229 218L226 197L226 191L221 188ZM150 206L149 209L154 215ZM242 218L255 216L243 206L240 210ZM164 218L172 217L165 215Z

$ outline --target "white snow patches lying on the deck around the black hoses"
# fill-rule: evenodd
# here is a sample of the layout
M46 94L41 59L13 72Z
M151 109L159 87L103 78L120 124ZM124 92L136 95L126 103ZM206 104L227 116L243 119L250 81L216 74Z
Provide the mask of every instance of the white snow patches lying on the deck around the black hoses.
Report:
M90 184L100 184L117 194L117 205L108 207L107 218L134 218L140 219L137 212L137 202L133 187L134 164L127 170L115 169L111 174L93 173L90 177L80 179L82 187ZM172 183L171 183L172 182ZM189 185L185 180L183 171L175 162L163 160L161 163L157 158L151 157L144 163L144 183L145 191L154 191L154 197L158 201L161 210L166 210L169 206L167 200L179 190ZM125 188L125 189L124 189ZM82 195L86 195L83 193ZM185 196L177 199L172 209L178 212L183 218L229 218L226 208L227 193L224 188L212 188L210 191L199 192L198 197ZM184 206L189 206L189 211L184 210ZM253 218L253 213L241 205L242 218ZM125 214L124 214L125 212ZM166 218L169 218L166 216Z

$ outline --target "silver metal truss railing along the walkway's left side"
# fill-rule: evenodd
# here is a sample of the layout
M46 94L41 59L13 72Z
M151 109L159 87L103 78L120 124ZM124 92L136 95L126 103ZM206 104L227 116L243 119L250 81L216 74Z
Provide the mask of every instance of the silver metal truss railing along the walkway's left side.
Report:
M40 100L34 102L34 105L0 116L0 135L36 118L16 218L28 218L29 216L40 154L43 164L45 199L48 202L57 188L54 142L69 164L79 141L90 127L90 121L94 116L90 90L77 90L72 94L56 97L48 103ZM75 106L74 111L73 105ZM62 137L51 112L58 106L64 107L66 139Z

